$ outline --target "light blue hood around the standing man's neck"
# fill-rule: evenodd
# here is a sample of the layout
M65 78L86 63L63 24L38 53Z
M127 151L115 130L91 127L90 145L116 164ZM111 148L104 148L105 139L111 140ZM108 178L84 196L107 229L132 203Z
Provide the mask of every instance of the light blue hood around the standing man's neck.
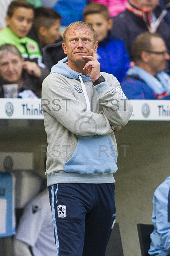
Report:
M69 68L67 65L67 62L68 62L68 57L62 60L59 60L58 63L51 68L50 74L58 73L60 75L66 76L68 78L76 79L76 80L80 80L78 76L81 76L83 82L91 81L91 78L89 77L89 75L85 76L82 73L78 73L73 69Z

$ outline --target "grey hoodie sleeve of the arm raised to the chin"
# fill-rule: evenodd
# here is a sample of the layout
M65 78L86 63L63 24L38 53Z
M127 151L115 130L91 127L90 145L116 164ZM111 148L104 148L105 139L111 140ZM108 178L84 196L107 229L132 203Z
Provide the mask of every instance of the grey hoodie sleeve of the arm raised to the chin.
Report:
M104 74L103 74L104 75ZM132 115L133 106L120 87L118 80L111 75L110 81L95 86L98 93L99 106L114 127L124 126Z

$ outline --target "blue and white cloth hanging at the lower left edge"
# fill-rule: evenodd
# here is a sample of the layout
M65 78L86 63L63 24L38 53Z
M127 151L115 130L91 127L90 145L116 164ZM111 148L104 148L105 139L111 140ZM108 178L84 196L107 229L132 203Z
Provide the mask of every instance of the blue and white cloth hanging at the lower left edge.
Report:
M15 233L14 177L8 172L0 172L0 237Z

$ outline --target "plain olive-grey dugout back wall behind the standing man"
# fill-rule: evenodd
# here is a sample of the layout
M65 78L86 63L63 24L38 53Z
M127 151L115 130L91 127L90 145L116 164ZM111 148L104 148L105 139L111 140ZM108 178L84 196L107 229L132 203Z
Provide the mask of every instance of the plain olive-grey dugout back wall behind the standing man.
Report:
M0 151L33 152L35 173L44 177L43 120L0 121ZM151 223L153 193L170 174L169 130L169 121L129 121L115 133L119 147L114 175L116 222L125 256L141 256L136 224ZM126 154L125 145L129 146Z

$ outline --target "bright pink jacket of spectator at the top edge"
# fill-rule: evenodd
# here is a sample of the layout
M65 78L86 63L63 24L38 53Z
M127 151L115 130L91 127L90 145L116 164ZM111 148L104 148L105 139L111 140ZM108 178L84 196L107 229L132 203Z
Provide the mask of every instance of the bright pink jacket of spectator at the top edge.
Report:
M97 2L99 4L106 5L112 18L120 12L125 11L128 0L90 0L90 2Z

